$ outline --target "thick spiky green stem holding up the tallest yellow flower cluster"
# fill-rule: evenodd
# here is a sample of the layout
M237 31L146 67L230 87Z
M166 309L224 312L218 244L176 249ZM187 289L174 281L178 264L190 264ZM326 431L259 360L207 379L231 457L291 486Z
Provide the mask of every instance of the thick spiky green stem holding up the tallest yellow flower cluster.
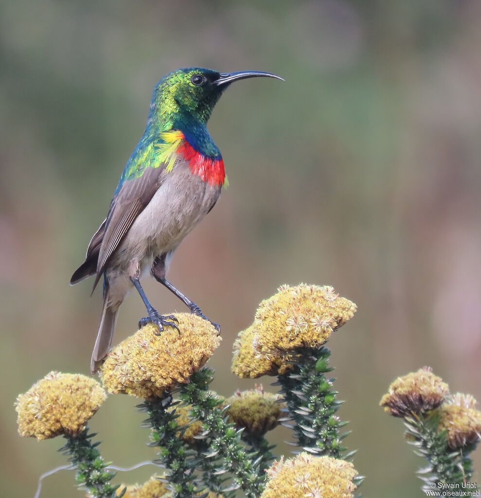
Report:
M332 389L333 378L326 373L334 370L329 367L331 352L325 348L303 348L297 351L293 371L278 375L281 392L284 396L297 445L318 455L348 459L347 448L342 440L349 432L341 428L336 412L342 401L336 399L337 391Z

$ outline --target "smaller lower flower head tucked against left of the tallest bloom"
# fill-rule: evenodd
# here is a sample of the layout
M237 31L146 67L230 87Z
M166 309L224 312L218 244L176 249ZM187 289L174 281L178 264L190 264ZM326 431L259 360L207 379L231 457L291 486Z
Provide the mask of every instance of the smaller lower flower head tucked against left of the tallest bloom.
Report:
M292 366L286 363L286 356L276 353L261 354L254 344L254 327L239 333L234 341L234 358L232 372L242 378L257 378L262 375L277 375L286 373Z

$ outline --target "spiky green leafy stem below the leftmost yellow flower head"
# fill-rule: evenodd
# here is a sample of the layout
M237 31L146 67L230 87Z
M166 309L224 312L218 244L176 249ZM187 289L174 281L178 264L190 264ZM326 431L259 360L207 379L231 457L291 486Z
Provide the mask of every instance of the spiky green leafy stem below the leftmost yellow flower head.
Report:
M124 492L116 494L120 485L110 484L116 473L106 470L110 463L104 461L97 449L100 442L92 443L91 439L95 436L89 434L88 427L76 436L64 435L67 443L59 451L69 455L69 462L77 469L75 479L78 485L86 488L92 497L122 497Z

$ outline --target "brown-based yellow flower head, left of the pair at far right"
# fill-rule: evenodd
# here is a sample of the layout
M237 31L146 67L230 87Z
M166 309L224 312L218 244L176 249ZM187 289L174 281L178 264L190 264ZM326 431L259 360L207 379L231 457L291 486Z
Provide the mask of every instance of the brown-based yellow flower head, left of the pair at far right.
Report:
M379 404L394 417L405 417L438 407L448 393L448 384L424 367L394 380Z

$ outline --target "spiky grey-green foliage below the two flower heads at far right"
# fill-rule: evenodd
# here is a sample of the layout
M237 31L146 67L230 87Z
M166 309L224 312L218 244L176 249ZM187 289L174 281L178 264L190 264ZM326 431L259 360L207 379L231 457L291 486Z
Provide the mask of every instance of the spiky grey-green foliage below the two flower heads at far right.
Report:
M404 424L408 443L414 445L415 453L426 458L429 463L418 472L419 478L424 482L422 490L439 490L438 485L447 484L462 493L463 483L469 482L473 475L472 461L468 455L476 445L457 451L450 449L446 431L438 432L439 415L436 410L405 417ZM472 492L473 488L470 488L465 495L457 496L473 496Z

